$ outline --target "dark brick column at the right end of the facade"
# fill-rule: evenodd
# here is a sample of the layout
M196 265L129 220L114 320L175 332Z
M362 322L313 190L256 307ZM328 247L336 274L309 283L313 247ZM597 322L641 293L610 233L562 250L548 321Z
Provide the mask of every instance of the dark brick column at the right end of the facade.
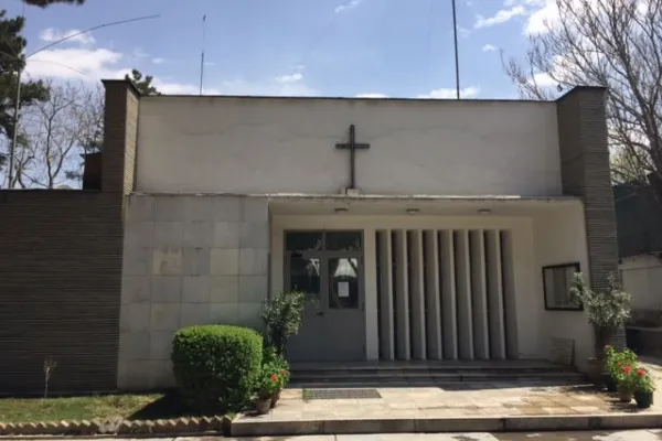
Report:
M601 87L576 87L556 101L563 193L584 200L594 289L607 287L610 273L618 277L605 92Z

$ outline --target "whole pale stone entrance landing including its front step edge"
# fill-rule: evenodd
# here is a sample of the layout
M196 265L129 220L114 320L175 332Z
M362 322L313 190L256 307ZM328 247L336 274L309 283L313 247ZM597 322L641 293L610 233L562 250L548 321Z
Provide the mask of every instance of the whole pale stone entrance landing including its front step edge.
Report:
M585 385L460 383L452 387L376 388L380 398L310 399L288 389L264 416L241 415L233 437L598 430L662 427L660 405L638 410ZM374 397L374 395L373 395Z

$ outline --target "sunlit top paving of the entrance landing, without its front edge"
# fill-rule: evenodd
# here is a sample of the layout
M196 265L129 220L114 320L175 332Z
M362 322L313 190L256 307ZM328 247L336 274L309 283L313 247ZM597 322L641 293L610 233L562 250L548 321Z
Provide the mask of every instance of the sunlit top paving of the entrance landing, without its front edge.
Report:
M660 402L639 410L634 401L618 402L616 394L591 386L521 384L452 384L437 387L377 388L381 398L305 399L301 389L284 390L276 409L259 421L337 419L406 419L662 412Z

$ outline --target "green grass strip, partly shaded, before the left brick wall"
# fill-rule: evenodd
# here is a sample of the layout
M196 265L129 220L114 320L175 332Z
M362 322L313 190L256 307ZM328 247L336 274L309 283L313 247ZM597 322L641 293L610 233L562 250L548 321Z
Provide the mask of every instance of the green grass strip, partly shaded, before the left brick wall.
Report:
M200 416L177 394L104 395L67 398L0 398L0 422L169 419Z

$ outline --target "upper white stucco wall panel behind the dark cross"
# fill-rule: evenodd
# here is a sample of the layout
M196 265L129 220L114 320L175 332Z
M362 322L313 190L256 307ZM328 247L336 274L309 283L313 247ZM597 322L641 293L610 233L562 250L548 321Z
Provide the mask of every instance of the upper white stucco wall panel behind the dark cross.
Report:
M559 195L554 103L142 97L140 192Z

